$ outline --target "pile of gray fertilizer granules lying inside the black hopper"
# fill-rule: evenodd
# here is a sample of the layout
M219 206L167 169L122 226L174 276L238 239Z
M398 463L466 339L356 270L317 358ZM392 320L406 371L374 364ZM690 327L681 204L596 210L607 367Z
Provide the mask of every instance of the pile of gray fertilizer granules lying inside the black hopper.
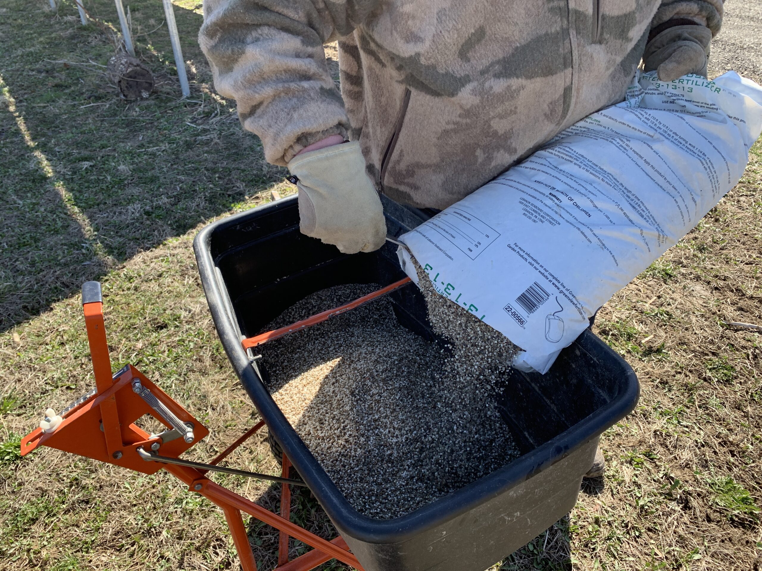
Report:
M269 327L378 288L341 285L316 292ZM365 515L405 515L518 455L491 397L488 377L495 372L486 373L485 382L488 368L469 362L488 352L472 359L466 352L446 356L401 327L388 298L267 343L262 352L280 410Z

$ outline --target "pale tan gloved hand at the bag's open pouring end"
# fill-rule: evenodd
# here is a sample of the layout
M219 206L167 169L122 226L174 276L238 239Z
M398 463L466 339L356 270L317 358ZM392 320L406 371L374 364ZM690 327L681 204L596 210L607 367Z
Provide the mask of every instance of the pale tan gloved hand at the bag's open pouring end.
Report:
M381 200L365 174L360 143L348 142L296 155L288 164L299 187L299 229L344 254L383 246Z

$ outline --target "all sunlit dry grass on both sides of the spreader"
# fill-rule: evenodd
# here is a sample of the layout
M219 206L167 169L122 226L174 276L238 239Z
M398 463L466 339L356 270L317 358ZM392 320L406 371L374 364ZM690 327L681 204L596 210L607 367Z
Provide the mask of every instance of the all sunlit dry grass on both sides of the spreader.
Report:
M727 500L741 494L728 478L757 505L762 497L760 334L719 322L762 323L759 152L757 144L742 183L700 227L599 314L597 333L636 368L642 397L604 435L607 475L584 487L571 513L566 533L576 569L753 569L757 515L748 505L734 511ZM104 292L115 367L133 362L206 423L212 435L191 456L210 458L255 416L213 332L191 234L134 257L104 280ZM0 394L17 403L0 418L3 440L34 426L47 404L61 407L90 386L80 312L70 298L0 337ZM262 437L232 461L277 470ZM0 568L235 565L216 509L167 475L143 477L43 449L6 464L2 478ZM277 506L265 484L219 481ZM314 504L300 505L299 517L330 533ZM275 534L256 531L258 552L272 557ZM553 553L564 553L564 535L561 526L535 549L556 545ZM532 569L537 560L523 551L504 569Z

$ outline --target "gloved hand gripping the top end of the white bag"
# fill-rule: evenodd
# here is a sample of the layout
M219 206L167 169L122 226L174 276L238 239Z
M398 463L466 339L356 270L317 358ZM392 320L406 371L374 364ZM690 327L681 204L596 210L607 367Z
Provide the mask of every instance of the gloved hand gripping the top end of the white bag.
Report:
M645 71L658 70L661 81L672 81L687 73L706 77L712 30L706 26L674 26L659 33L645 46Z

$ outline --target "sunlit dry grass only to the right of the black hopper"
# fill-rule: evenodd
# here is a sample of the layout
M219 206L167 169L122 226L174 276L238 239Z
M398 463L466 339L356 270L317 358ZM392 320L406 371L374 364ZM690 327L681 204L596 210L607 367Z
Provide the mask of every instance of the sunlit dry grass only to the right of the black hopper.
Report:
M762 336L722 322L762 324L760 155L757 142L738 187L599 313L642 394L572 512L580 569L759 564Z

